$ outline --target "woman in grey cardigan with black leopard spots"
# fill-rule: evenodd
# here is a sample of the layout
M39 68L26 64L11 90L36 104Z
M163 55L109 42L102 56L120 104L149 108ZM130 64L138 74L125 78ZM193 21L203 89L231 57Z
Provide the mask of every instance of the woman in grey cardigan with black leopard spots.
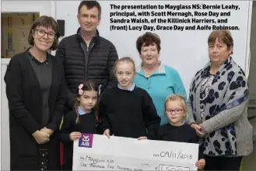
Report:
M213 31L208 44L210 61L191 81L188 124L202 138L205 170L239 170L253 149L247 79L230 56L229 31Z

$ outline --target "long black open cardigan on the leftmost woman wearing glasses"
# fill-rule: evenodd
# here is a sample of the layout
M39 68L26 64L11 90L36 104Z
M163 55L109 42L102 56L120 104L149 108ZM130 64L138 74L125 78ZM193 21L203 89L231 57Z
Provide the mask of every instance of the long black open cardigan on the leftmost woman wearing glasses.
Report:
M32 134L42 128L40 84L27 55L27 52L24 52L13 56L5 73L6 95L9 101L11 162L14 157L37 156L38 144ZM57 134L65 105L65 92L62 86L64 72L61 62L54 56L49 56L52 61L52 76L47 128L55 132L47 146L50 151L57 152Z

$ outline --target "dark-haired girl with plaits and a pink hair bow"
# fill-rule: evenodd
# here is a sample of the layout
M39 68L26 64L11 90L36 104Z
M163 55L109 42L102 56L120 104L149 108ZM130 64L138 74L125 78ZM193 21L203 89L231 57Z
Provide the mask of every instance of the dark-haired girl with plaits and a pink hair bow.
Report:
M99 133L96 102L98 91L96 84L84 80L77 89L75 110L69 111L61 126L61 142L64 147L63 170L72 170L73 141L81 138L81 133Z

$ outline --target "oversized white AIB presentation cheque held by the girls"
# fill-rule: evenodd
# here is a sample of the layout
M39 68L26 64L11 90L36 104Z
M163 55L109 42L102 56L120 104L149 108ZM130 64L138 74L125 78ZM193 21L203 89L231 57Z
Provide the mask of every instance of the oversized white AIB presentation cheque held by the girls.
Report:
M197 170L198 144L82 134L73 170Z

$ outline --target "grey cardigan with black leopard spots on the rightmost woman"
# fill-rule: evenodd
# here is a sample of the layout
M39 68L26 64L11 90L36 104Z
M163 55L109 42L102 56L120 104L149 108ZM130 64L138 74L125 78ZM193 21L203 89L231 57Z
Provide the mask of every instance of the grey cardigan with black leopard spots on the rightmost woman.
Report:
M205 132L202 151L206 156L247 156L252 151L252 128L247 119L247 78L230 56L218 69L205 99L200 94L209 77L211 61L191 80L188 124L202 124ZM206 81L207 82L207 81Z

